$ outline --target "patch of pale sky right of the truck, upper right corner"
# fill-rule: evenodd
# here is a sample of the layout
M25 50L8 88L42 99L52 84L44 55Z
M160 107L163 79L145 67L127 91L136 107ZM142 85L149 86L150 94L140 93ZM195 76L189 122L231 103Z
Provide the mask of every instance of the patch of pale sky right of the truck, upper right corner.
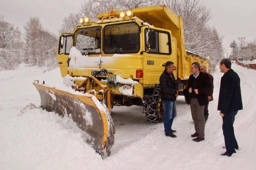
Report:
M211 25L215 26L223 39L224 48L229 49L234 39L245 37L245 41L256 40L256 0L201 0L211 9Z

